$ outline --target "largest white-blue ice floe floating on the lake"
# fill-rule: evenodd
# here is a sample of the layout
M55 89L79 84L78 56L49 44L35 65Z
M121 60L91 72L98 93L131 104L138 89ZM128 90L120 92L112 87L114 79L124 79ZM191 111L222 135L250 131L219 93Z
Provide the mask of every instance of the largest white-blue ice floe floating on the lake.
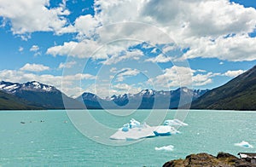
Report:
M180 124L184 123L180 121ZM149 126L146 123L140 124L140 122L132 118L129 124L124 124L122 128L110 136L110 139L134 141L147 137L174 135L178 133L180 132L169 124Z

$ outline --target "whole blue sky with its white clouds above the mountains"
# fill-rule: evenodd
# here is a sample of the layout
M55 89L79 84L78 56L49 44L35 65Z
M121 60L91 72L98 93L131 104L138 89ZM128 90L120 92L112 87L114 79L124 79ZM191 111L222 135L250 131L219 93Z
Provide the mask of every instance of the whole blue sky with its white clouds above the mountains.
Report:
M251 0L1 0L0 80L67 95L212 89L256 64Z

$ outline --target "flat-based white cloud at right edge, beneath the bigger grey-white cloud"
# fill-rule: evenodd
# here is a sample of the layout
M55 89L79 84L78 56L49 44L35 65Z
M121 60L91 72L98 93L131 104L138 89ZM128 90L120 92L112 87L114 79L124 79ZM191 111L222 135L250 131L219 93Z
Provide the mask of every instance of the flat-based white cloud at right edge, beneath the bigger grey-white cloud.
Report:
M256 60L256 38L248 35L233 37L217 37L214 41L210 37L195 39L183 59L218 58L219 60L243 61Z

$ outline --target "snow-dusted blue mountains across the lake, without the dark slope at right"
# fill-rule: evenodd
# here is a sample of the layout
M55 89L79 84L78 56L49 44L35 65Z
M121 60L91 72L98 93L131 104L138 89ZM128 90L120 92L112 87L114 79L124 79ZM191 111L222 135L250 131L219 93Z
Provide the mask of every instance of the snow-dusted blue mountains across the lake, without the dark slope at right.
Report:
M179 88L171 91L156 91L143 89L137 94L113 95L100 98L97 95L85 92L73 99L63 94L59 89L36 81L27 83L0 82L0 91L4 102L0 109L151 109L177 108L186 102L183 99L195 100L208 90ZM63 100L68 105L65 106ZM183 103L182 103L183 102ZM17 104L16 104L17 103ZM181 105L180 105L181 106Z

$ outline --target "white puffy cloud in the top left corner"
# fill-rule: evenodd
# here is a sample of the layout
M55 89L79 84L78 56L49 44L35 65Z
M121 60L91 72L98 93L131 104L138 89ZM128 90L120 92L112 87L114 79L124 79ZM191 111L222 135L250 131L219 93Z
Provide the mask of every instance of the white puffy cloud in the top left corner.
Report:
M10 20L15 34L58 32L67 25L70 14L65 3L49 8L49 0L1 0L0 15Z

